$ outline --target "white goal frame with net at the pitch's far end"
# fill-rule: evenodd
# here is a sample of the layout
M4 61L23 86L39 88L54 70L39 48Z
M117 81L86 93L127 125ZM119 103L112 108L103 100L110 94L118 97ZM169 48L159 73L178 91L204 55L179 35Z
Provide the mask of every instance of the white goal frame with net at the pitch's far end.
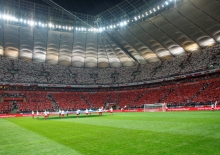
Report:
M144 112L166 112L166 103L144 104Z

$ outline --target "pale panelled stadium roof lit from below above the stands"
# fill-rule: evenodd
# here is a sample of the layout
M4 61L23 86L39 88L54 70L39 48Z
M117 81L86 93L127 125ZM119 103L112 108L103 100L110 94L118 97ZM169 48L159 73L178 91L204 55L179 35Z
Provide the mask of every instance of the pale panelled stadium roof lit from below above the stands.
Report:
M219 0L182 0L163 10L159 1L154 6L145 2L145 18L142 2L125 0L91 16L103 21L100 25L116 17L130 22L102 32L28 27L3 22L2 16L0 55L75 67L121 67L175 58L220 42Z

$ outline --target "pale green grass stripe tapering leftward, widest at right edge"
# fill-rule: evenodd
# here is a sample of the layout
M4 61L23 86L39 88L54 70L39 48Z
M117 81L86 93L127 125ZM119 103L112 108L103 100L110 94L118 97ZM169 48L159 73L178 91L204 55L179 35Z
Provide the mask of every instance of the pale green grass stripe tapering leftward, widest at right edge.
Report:
M179 135L220 138L220 111L171 113L115 113L114 116L97 116L93 119L53 119L80 124L146 130ZM132 117L130 117L132 116ZM181 117L180 117L181 116ZM75 118L75 116L73 116Z

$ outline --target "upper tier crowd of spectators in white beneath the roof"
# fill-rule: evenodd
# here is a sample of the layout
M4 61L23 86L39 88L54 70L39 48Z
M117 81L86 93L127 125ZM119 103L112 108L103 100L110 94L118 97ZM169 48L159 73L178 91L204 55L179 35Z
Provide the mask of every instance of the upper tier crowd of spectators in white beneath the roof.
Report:
M135 67L75 68L0 57L0 82L111 85L143 82L201 70L219 68L220 45L173 59ZM139 72L139 74L134 74Z

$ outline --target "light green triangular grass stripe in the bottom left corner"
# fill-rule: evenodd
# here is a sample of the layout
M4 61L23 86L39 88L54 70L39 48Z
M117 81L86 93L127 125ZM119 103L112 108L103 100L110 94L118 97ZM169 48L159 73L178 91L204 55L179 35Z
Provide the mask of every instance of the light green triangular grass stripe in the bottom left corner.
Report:
M16 118L14 118L16 120ZM23 120L20 120L23 121ZM44 128L37 126L37 128ZM73 154L80 155L73 149L22 128L4 119L0 119L0 154L1 155L40 155Z

